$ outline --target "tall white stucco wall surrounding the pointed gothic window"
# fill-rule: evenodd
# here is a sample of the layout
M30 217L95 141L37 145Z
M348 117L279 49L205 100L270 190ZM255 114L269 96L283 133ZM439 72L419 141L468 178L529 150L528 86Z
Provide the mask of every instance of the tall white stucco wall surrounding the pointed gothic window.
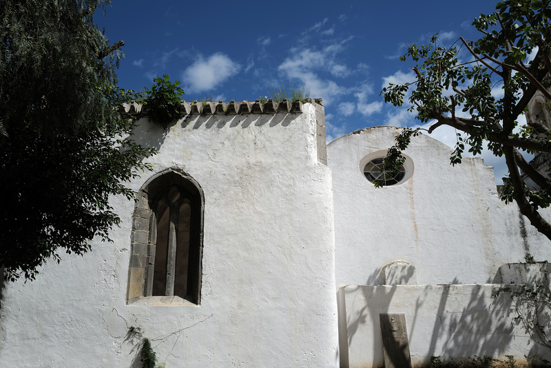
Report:
M134 202L113 198L114 243L6 285L0 365L137 367L129 327L167 367L337 365L331 172L314 107L303 110L191 116L167 132L141 121L136 140L160 152L154 172L178 167L205 194L201 304L125 304Z

